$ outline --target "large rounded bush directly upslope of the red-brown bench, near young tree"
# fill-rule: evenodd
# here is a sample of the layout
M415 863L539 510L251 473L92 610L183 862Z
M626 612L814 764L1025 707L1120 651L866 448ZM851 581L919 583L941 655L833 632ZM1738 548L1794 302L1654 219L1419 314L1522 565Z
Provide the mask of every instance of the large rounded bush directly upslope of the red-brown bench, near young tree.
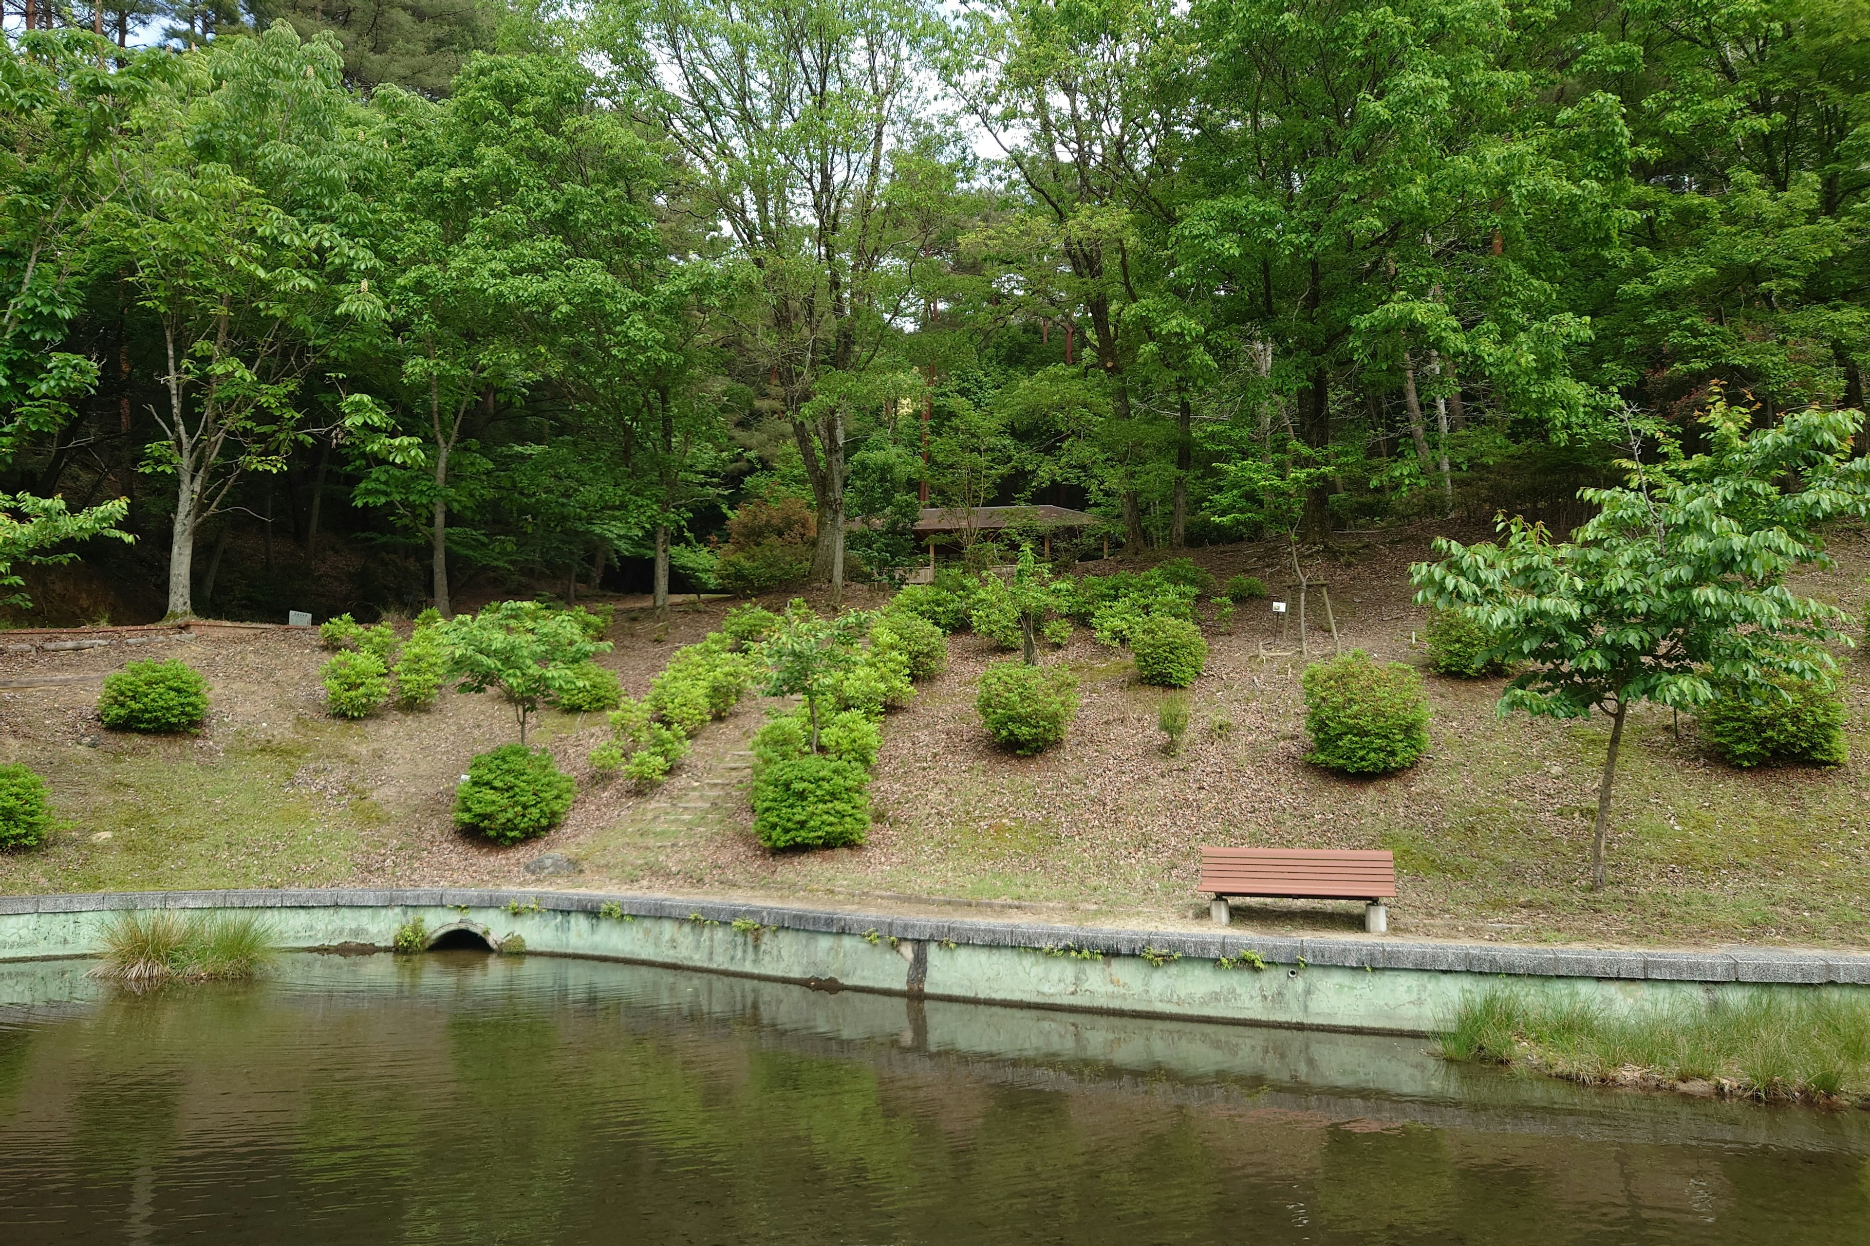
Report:
M1363 650L1305 667L1305 760L1352 775L1408 770L1429 747L1421 674Z

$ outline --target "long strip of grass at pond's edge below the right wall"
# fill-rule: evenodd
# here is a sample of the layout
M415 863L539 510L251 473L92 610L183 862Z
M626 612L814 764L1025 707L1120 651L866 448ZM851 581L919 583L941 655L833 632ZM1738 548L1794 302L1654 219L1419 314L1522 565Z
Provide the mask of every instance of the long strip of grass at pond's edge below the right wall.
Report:
M1870 1102L1870 992L1758 988L1619 1012L1502 988L1462 1001L1442 1054L1588 1083Z

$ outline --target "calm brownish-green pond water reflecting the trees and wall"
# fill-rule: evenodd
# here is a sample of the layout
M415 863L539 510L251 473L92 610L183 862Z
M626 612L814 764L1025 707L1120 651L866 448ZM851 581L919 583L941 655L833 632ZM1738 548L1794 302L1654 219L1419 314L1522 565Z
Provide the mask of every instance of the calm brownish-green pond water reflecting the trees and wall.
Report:
M1870 1113L640 966L0 968L0 1242L1870 1242Z

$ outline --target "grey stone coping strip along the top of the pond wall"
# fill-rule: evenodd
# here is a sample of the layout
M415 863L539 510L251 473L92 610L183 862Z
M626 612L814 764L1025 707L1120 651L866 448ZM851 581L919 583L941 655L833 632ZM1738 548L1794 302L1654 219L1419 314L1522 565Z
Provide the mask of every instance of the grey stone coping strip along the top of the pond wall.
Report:
M698 900L597 891L466 887L316 887L247 891L118 891L92 895L0 897L6 913L77 913L151 908L505 908L597 913L615 904L632 917L755 921L761 927L827 934L952 942L978 947L1073 947L1116 956L1191 958L1255 953L1268 964L1350 970L1429 970L1528 977L1590 977L1672 983L1848 983L1870 986L1870 955L1730 947L1719 951L1640 951L1599 947L1524 947L1500 943L1416 943L1395 938L1281 936L1249 932L1118 930L1023 921L907 917L784 904Z

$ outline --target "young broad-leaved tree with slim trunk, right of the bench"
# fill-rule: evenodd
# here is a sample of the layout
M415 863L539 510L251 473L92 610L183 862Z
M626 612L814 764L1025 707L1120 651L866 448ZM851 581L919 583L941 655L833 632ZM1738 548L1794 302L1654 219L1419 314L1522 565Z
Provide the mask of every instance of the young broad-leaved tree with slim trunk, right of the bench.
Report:
M1690 710L1715 697L1713 682L1782 695L1775 676L1823 676L1833 663L1821 646L1844 639L1834 626L1844 615L1793 596L1784 579L1827 564L1820 523L1870 512L1870 460L1851 458L1863 415L1799 411L1748 432L1748 415L1717 394L1702 422L1705 454L1683 458L1662 435L1661 463L1623 463L1627 488L1584 489L1601 510L1575 542L1503 519L1503 544L1438 540L1444 560L1412 568L1419 603L1468 607L1498 635L1492 656L1526 667L1507 684L1502 715L1610 715L1593 891L1604 887L1629 708Z

